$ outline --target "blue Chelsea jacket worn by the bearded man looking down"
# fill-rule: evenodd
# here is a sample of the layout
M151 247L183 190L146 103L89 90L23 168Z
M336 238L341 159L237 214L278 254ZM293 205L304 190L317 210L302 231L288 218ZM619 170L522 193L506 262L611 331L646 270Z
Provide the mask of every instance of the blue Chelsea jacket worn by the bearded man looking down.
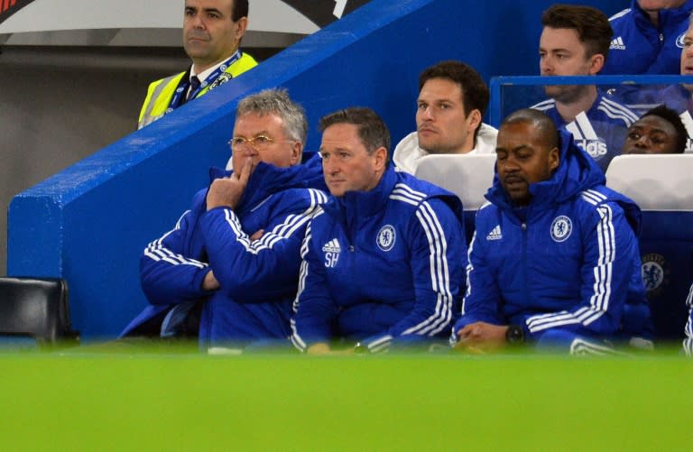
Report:
M651 335L636 236L640 208L605 187L604 173L570 134L561 131L560 141L559 168L531 184L523 215L496 173L489 202L476 214L453 340L476 321L521 325L530 341L556 328L586 337L623 329Z

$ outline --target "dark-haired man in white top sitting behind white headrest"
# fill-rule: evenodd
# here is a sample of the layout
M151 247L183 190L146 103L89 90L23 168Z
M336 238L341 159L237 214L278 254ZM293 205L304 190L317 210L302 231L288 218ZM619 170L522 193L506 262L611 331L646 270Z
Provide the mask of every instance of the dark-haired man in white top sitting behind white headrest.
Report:
M419 76L416 132L397 144L393 161L413 174L431 153L494 152L497 131L482 123L489 92L475 69L460 61L441 61Z

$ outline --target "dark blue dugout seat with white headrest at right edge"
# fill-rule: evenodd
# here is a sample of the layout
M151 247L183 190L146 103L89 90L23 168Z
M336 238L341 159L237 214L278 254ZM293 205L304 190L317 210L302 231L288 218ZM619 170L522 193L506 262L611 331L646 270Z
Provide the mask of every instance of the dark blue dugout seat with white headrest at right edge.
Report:
M655 337L678 339L693 278L693 155L616 157L606 171L606 185L642 209L642 279Z

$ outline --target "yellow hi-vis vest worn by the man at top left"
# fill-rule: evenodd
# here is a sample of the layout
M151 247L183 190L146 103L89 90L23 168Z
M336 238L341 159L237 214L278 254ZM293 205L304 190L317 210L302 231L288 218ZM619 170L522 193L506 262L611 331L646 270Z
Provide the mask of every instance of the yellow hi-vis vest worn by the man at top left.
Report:
M226 68L224 74L230 74L232 78L238 77L243 74L248 69L253 69L257 66L257 61L253 57L243 52L241 58L236 60L232 65ZM171 77L162 78L156 80L149 85L147 89L147 97L144 98L144 104L142 110L140 110L140 119L137 122L137 128L141 129L145 125L152 124L157 119L161 118L163 115L168 113L166 110L171 104L171 98L173 98L173 93L175 93L176 88L180 83L180 79L185 76L187 72L180 72L180 74L172 75ZM223 76L223 74L222 74ZM217 80L221 81L220 76ZM207 87L201 89L195 98L204 96L210 89L217 88L222 83L210 83Z

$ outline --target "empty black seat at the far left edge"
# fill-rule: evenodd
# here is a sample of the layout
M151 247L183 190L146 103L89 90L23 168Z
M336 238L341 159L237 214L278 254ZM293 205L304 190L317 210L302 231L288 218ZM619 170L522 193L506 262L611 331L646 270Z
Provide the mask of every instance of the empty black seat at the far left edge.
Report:
M68 284L58 278L0 277L0 346L76 345Z

